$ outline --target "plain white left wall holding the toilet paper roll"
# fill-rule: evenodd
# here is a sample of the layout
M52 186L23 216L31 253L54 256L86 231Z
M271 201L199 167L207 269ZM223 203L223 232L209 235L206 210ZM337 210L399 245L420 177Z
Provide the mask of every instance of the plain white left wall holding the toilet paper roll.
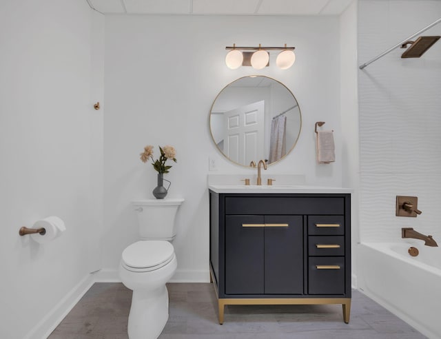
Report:
M88 232L100 227L92 181L101 176L102 119L90 99L92 83L100 86L91 79L92 17L85 1L0 2L1 338L43 338L96 261ZM65 221L61 238L19 236L50 215Z

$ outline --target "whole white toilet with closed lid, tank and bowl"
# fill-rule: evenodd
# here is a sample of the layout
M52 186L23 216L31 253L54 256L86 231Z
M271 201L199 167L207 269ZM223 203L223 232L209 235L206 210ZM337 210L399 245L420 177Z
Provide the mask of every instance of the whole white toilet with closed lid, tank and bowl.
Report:
M175 217L184 199L132 201L138 214L139 235L124 249L119 276L133 290L128 334L130 339L156 339L168 319L168 292L165 283L177 267L173 240Z

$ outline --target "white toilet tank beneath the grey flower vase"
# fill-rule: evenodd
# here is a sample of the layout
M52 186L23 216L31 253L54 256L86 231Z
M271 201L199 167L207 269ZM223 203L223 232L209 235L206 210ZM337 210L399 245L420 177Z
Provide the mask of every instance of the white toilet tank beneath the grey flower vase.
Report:
M176 212L183 201L183 198L132 201L141 240L173 240Z

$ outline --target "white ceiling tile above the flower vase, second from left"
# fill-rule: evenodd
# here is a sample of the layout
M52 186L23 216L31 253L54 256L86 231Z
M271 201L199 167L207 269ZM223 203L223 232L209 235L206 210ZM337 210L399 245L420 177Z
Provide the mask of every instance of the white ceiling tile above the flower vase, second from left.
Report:
M190 0L123 0L129 14L188 14Z

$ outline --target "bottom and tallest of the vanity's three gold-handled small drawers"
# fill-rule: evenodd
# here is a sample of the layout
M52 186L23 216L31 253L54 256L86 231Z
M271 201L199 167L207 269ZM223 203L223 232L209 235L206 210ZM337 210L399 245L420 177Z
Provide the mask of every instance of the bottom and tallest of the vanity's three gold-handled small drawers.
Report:
M309 257L309 294L345 294L345 257Z

